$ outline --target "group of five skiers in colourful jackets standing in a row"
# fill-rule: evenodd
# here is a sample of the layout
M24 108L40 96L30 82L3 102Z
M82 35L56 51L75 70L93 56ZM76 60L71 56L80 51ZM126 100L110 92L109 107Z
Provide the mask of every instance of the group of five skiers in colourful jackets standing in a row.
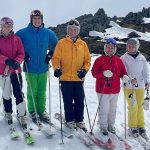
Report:
M87 44L79 37L80 24L71 20L67 35L58 41L55 33L44 27L43 14L33 10L30 23L14 34L13 20L4 17L0 21L0 86L5 119L12 124L12 90L16 99L17 119L27 128L26 103L22 92L21 63L27 81L28 112L35 123L49 122L46 112L46 84L49 61L54 76L59 78L64 102L65 120L69 128L86 131L84 123L84 77L91 66ZM106 39L104 54L92 67L96 78L99 102L98 121L103 135L115 133L117 100L120 78L123 81L128 102L128 126L132 135L146 134L144 128L144 90L149 89L150 74L145 57L139 52L139 41L130 38L127 52L119 58L115 55L117 42ZM48 52L47 52L48 51Z

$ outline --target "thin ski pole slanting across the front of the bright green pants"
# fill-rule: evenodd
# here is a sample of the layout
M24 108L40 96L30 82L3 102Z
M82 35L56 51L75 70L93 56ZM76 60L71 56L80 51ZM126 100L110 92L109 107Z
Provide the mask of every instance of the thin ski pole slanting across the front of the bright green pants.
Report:
M38 123L38 129L41 130L40 123L39 123L39 118L38 118L38 114L37 114L37 109L36 109L36 104L35 104L35 99L34 99L34 96L33 96L33 90L32 90L32 86L31 86L31 80L30 80L28 65L27 65L26 62L24 62L24 63L25 63L25 67L26 67L26 71L27 71L27 75L28 75L29 88L30 88L30 91L31 91L32 102L33 102L33 106L34 106L34 110L35 110L35 117L36 117L36 121Z

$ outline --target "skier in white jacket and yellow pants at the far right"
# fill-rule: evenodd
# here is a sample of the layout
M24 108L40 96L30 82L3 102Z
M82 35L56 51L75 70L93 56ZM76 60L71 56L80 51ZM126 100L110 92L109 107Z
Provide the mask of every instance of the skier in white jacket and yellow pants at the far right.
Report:
M128 102L128 126L129 135L134 137L146 136L144 128L144 88L150 87L150 73L145 57L138 51L139 40L130 38L127 40L127 52L121 56L127 69L130 82L124 85L124 94Z

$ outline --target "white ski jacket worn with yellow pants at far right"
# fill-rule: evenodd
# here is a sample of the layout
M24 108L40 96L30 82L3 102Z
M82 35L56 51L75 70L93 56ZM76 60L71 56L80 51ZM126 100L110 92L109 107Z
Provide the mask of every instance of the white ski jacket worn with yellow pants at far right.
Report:
M133 58L128 53L121 56L121 59L127 69L130 79L136 78L137 89L144 88L145 83L150 83L150 71L145 57L139 52L136 58ZM127 84L126 88L132 88L132 84Z

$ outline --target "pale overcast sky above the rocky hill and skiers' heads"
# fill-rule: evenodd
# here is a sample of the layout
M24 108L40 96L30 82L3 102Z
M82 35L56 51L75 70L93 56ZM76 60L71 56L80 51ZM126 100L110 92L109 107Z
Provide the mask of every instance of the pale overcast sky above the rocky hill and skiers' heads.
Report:
M103 8L108 16L125 16L128 12L150 7L150 0L0 0L0 18L8 16L15 30L27 26L30 12L40 9L46 26L56 26L83 14Z

